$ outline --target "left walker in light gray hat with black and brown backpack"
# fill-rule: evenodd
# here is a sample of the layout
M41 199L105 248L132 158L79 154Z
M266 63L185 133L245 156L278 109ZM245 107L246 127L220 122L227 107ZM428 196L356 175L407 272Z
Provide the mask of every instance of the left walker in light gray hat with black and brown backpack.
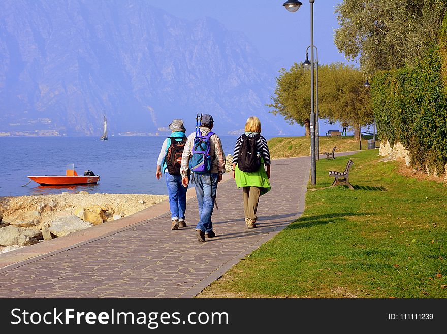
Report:
M188 184L182 185L180 174L180 162L186 143L185 127L182 119L174 119L169 124L172 131L171 136L163 142L162 149L158 155L156 178L159 180L165 174L168 187L169 210L171 211L171 230L186 227L186 191Z

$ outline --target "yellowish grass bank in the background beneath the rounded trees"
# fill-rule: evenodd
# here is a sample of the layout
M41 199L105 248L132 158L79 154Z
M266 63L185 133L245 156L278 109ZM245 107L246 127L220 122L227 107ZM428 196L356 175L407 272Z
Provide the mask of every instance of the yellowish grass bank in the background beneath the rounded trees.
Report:
M368 139L372 139L372 136L362 136L362 150L368 149ZM375 144L377 147L380 146L378 140ZM310 155L310 137L275 137L269 139L268 145L271 157L274 159ZM360 143L354 140L353 136L320 136L320 154L332 152L334 146L337 147L336 153L360 150Z

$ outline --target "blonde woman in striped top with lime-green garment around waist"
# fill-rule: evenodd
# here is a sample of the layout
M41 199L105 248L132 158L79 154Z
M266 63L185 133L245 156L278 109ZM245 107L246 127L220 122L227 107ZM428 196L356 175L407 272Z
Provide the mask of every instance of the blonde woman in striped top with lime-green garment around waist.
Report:
M233 152L233 178L242 187L245 224L256 228L259 197L270 191L270 151L261 136L261 121L248 117L245 133L238 137Z

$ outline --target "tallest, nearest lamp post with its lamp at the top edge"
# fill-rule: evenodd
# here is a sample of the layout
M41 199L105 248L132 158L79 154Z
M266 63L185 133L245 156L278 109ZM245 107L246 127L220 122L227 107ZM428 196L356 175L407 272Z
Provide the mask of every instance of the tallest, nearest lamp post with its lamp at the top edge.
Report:
M316 184L316 168L315 168L315 114L314 114L314 97L313 97L313 3L315 0L309 0L310 3L310 184ZM282 4L289 12L296 12L303 3L298 0L288 0Z

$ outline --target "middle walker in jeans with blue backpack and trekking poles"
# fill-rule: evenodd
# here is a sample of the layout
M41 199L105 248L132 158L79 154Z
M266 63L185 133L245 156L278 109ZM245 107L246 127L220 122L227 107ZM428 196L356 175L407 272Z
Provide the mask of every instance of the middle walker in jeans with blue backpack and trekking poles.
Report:
M213 214L216 200L217 183L222 180L225 172L225 154L219 136L212 132L214 120L211 115L204 114L200 117L201 122L197 125L195 133L191 133L185 144L181 161L182 183L186 187L189 182L188 172L191 171L191 183L196 189L197 202L199 206L199 222L196 226L197 240L202 242L205 238L216 236L213 231L211 216ZM198 115L198 122L199 122ZM200 147L199 147L200 146ZM198 150L207 152L197 153ZM196 156L205 156L204 160L197 162ZM193 162L194 163L191 163ZM199 169L198 166L203 168Z

